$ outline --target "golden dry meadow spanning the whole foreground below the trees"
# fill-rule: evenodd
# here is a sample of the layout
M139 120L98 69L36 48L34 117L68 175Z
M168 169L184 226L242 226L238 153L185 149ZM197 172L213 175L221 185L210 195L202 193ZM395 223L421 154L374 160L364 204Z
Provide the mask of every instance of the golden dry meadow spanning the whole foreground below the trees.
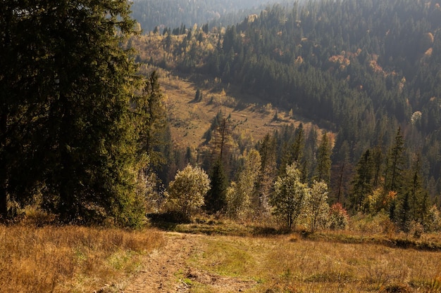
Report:
M439 234L309 234L200 219L137 231L15 224L0 226L0 287L130 292L125 289L157 252L163 271L180 266L168 282L185 290L172 286L173 292L441 292L440 247ZM175 263L181 251L188 254Z

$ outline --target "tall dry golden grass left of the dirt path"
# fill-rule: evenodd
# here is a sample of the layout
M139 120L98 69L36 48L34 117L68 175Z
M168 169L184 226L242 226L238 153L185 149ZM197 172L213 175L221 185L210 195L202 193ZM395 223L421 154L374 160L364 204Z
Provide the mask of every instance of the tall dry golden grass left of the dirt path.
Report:
M0 226L0 292L120 291L162 242L156 230Z

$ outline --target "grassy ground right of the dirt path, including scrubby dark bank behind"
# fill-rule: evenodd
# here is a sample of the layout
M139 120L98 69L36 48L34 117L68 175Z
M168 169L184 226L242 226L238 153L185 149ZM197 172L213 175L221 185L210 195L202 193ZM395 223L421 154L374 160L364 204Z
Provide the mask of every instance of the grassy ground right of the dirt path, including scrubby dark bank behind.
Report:
M197 233L197 275L242 282L243 292L441 292L441 235L361 230L288 233L225 219L165 227ZM237 292L182 275L190 292ZM237 287L234 287L237 289Z

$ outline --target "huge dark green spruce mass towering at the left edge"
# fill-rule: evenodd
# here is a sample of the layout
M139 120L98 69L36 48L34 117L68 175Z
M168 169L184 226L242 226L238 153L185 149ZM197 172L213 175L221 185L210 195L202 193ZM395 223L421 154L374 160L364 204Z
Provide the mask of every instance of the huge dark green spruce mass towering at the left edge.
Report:
M0 13L0 214L38 192L61 221L135 224L130 4L8 0Z

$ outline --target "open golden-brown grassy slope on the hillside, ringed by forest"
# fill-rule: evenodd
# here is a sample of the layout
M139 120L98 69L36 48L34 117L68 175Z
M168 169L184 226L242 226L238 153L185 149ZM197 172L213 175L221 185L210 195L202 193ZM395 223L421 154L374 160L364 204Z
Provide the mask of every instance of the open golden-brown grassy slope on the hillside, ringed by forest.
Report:
M251 102L252 97L241 96L234 89L225 90L215 81L201 82L204 98L195 103L197 85L162 70L159 74L161 88L166 96L173 141L178 148L201 147L204 134L219 111L225 117L231 115L235 133L249 138L253 143L284 124L297 126L302 122L271 105ZM274 119L276 112L277 120ZM306 129L312 126L310 122L303 123Z

